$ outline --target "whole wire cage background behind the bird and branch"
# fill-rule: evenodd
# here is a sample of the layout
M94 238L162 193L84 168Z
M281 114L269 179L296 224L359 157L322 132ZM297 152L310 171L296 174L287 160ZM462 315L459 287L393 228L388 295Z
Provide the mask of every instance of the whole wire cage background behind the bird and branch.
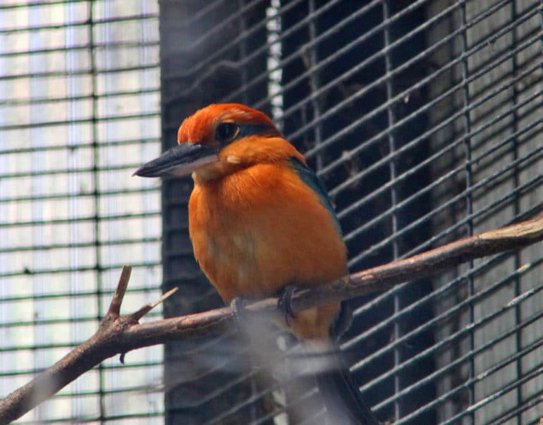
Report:
M123 264L124 312L173 286L145 320L221 306L190 178L131 177L209 103L262 109L305 153L353 272L541 214L542 23L539 0L2 2L0 397L94 333ZM341 347L377 417L539 423L542 261L534 245L352 300ZM247 344L109 359L20 423L301 423L316 390L262 379Z

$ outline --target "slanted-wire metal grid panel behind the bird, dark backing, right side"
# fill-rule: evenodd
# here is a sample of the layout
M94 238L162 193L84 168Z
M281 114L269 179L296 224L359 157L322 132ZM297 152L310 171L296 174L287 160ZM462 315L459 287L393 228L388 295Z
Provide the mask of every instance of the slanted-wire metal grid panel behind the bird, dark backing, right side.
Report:
M327 184L352 271L541 211L539 1L164 1L161 13L164 147L200 106L267 111ZM187 294L171 314L220 304L191 257L189 192L187 180L163 192L165 283ZM342 347L379 418L538 421L541 263L529 247L356 300ZM187 345L167 350L175 371ZM295 402L221 365L172 386L171 423L266 423L288 411L281 397Z

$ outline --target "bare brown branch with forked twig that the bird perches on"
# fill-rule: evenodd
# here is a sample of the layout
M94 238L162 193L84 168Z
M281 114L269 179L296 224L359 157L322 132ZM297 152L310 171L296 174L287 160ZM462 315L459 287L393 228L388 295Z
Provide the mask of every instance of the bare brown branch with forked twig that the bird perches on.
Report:
M292 309L293 312L299 312L331 301L381 292L398 283L429 276L465 261L515 250L540 240L543 240L543 216L464 238L408 259L354 273L320 288L297 290L293 295ZM146 304L133 314L121 316L120 309L130 279L130 270L129 266L123 267L108 312L97 333L0 401L1 424L22 416L104 359L121 354L122 362L124 353L136 348L219 333L231 326L231 311L228 307L146 324L138 323L142 316L175 290L167 292L157 302ZM250 304L247 308L257 310L259 314L276 314L276 305L276 298L268 298Z

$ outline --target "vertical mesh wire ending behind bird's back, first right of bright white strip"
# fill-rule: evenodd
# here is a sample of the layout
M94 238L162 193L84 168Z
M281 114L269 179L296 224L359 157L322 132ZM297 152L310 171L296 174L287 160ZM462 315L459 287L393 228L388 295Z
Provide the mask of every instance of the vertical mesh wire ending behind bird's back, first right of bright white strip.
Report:
M309 0L309 14L312 16L315 14L315 0ZM307 54L307 68L310 69L310 87L311 87L311 106L313 108L313 118L317 121L317 125L315 125L315 146L318 146L322 143L322 122L319 120L320 116L322 115L320 102L317 97L315 97L315 92L319 90L320 87L320 77L318 71L315 71L315 65L317 65L319 61L319 54L317 53L317 44L314 43L313 40L317 38L317 18L311 19L309 21L309 42L311 44L311 47L309 48L309 51L306 51ZM323 155L322 153L317 154L317 171L319 171L323 166Z

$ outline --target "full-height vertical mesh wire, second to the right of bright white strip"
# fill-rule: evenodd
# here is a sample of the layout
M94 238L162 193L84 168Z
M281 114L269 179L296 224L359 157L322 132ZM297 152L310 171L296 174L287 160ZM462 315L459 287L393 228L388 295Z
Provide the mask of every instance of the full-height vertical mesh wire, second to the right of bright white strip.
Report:
M389 46L391 44L391 34L390 34L390 26L387 25L387 21L390 17L390 7L389 7L389 0L383 1L383 20L385 23L384 26L384 48L386 49L386 54L384 56L385 60L385 66L386 66L386 101L389 102L390 99L394 96L394 87L393 87L393 81L391 77L391 72L393 68L393 63L389 51ZM396 123L396 114L393 110L393 105L390 104L386 107L386 117L388 121L389 127L393 126ZM393 154L396 152L396 140L394 137L394 132L390 132L388 136L389 140L389 154ZM396 180L396 161L391 160L389 161L389 178L392 183L391 185L391 208L396 206L396 203L398 202L398 193L396 191L396 185L394 185L394 181ZM394 211L391 215L391 224L392 224L392 234L396 234L398 231L398 216L396 215L396 211ZM398 240L394 239L392 242L392 252L393 252L393 259L398 259ZM394 294L394 314L398 314L401 310L401 297L398 294ZM401 337L401 326L398 321L394 321L394 340L398 340ZM394 367L398 367L401 363L401 351L398 347L394 348ZM402 387L401 383L401 376L399 374L394 374L394 393L399 393ZM402 416L402 408L401 408L401 402L400 400L394 401L394 418L396 421L400 419Z

